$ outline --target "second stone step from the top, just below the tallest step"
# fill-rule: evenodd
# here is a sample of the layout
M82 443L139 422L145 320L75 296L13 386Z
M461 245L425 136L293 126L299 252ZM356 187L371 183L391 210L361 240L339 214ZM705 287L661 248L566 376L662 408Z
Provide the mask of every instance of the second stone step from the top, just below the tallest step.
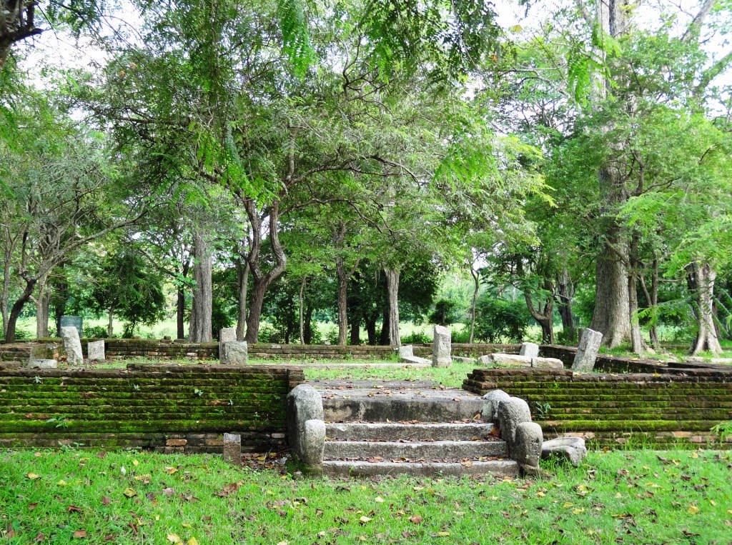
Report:
M397 440L445 440L470 441L486 439L493 431L493 424L471 422L469 424L400 424L397 422L360 422L327 424L325 435L332 440L365 441L378 439Z

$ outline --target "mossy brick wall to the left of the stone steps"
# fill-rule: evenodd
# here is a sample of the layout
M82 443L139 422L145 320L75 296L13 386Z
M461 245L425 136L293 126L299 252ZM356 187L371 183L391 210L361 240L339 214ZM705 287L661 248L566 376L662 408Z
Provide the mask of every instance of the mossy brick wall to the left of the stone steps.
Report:
M0 367L0 446L220 452L230 432L261 451L284 445L285 397L303 380L287 366Z

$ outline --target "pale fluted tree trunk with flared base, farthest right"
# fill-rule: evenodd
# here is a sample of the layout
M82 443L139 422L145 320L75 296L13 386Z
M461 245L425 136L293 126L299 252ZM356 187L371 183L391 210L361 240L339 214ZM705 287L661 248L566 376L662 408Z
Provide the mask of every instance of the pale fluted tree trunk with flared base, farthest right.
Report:
M692 345L691 353L696 356L700 352L709 350L714 356L718 356L722 353L722 347L717 338L717 330L714 328L714 315L712 314L714 280L717 278L717 271L714 271L708 263L701 263L699 260L687 265L686 271L687 285L694 298L692 307L698 326L698 333Z

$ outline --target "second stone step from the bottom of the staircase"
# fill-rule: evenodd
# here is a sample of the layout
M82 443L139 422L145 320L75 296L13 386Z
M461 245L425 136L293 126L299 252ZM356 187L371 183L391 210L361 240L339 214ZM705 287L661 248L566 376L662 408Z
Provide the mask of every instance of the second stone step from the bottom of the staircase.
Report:
M327 441L325 459L441 459L462 460L507 456L504 441Z

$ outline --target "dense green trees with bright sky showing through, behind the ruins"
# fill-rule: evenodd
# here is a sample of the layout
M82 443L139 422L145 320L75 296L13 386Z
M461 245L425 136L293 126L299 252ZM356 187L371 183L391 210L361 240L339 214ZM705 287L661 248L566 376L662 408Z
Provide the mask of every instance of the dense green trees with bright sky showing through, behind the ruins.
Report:
M728 0L2 3L7 342L732 338Z

